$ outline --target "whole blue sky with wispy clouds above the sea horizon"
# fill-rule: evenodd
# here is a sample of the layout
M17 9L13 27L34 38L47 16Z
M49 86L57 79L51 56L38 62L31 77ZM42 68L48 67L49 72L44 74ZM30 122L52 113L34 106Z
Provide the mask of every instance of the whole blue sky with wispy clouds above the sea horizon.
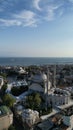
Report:
M0 0L0 57L73 57L73 0Z

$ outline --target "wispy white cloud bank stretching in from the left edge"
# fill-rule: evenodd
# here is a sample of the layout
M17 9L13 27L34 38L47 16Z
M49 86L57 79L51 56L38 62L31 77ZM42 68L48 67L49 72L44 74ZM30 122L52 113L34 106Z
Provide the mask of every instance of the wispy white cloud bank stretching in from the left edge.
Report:
M3 26L37 26L36 14L29 10L23 10L13 14L12 19L0 18L0 25Z

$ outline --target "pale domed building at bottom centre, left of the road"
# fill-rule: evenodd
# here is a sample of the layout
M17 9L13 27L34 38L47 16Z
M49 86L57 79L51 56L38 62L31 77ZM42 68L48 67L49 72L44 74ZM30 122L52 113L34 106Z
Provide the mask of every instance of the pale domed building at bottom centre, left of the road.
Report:
M21 117L23 126L32 127L35 123L39 121L39 112L31 109L25 109L22 105L15 105L14 112L16 117Z

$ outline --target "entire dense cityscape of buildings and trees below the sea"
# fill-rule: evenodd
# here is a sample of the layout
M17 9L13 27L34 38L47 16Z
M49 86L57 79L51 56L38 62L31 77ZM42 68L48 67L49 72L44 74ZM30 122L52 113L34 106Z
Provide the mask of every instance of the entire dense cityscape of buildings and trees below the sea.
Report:
M72 129L72 64L0 66L0 130Z

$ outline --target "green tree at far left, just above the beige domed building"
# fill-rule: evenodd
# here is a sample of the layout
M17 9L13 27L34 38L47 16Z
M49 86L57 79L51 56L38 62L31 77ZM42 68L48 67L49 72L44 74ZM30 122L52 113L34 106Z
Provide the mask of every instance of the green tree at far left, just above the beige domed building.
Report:
M12 107L15 102L15 99L10 94L5 94L3 97L3 103L8 107Z

